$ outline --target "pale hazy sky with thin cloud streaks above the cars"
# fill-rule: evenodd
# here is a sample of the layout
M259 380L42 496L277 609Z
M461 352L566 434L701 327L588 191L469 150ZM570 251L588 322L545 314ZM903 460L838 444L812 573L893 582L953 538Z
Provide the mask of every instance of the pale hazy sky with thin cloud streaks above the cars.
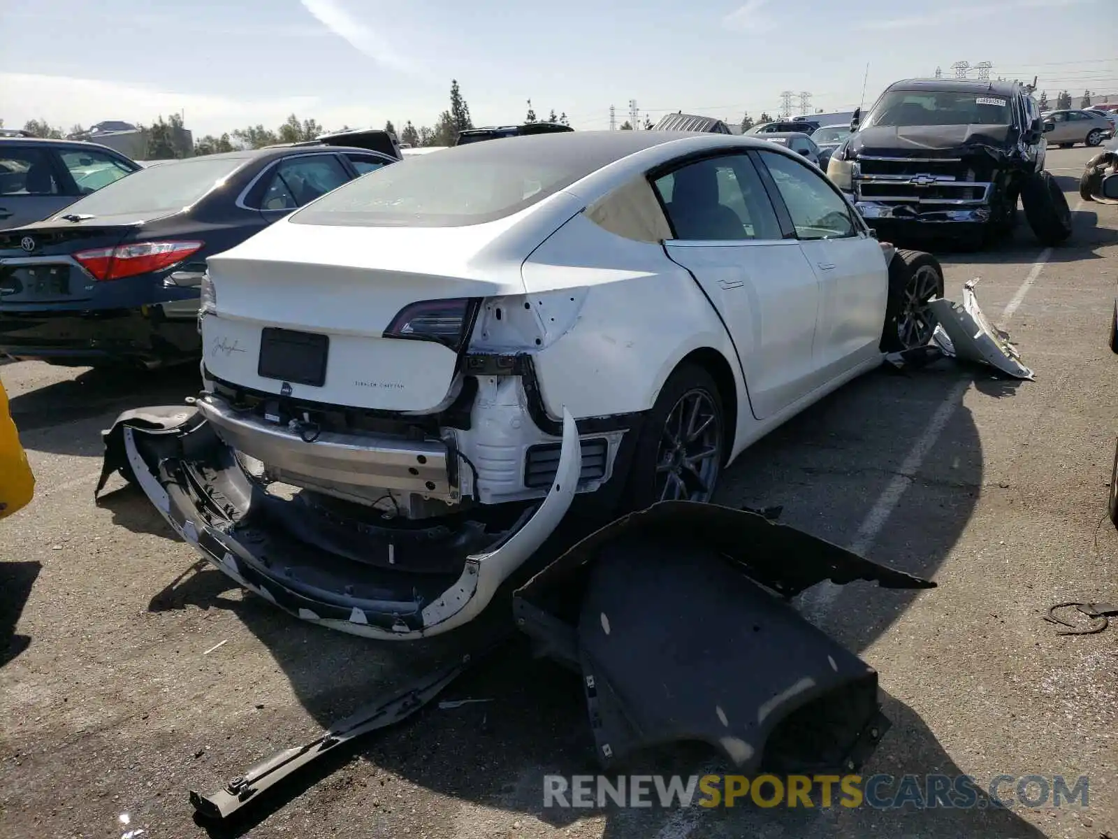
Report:
M433 125L457 78L475 124L618 124L635 100L738 122L780 92L851 110L957 60L1051 100L1118 101L1118 0L0 0L0 119L68 129L181 111L198 138L294 112L328 130Z

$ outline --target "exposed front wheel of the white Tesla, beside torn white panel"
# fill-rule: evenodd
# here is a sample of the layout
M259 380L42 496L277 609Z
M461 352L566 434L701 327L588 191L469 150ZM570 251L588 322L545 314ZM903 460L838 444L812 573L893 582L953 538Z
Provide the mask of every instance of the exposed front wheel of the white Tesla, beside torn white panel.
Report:
M922 347L936 331L928 302L944 296L944 270L923 251L897 251L889 262L889 299L881 331L881 351Z

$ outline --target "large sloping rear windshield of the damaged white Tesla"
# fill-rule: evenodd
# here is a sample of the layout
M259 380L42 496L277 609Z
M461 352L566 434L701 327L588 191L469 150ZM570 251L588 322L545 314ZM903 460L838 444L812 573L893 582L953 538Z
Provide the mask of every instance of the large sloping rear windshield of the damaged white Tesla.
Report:
M288 218L293 224L361 227L462 227L504 218L600 166L588 159L593 155L572 150L547 153L533 142L543 136L408 157L328 192Z

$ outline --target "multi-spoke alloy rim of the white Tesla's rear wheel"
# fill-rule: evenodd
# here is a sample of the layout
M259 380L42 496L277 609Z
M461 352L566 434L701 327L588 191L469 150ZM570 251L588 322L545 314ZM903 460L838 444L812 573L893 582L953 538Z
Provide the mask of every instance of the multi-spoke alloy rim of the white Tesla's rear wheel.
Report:
M714 399L697 388L667 414L656 452L656 498L710 501L722 460L722 420Z

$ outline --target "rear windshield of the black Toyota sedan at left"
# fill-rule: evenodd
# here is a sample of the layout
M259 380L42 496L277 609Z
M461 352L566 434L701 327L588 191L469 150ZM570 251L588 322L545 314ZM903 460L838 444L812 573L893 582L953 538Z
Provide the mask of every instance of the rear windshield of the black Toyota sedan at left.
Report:
M160 163L108 183L63 211L91 216L173 213L197 201L244 162L245 158L193 158Z

